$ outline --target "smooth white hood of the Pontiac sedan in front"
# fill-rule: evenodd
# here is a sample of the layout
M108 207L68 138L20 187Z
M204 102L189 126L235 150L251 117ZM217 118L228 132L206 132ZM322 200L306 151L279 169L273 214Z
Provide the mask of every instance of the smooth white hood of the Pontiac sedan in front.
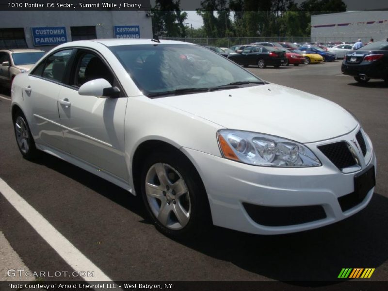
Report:
M357 126L356 119L336 103L276 84L154 100L224 128L267 133L301 143L337 137Z

